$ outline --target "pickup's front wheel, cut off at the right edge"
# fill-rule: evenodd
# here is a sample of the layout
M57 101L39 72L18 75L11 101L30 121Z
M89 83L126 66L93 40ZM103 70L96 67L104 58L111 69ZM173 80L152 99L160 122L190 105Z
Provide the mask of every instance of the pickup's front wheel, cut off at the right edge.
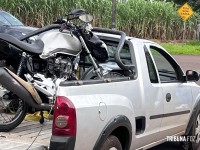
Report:
M186 139L191 139L191 141L182 142L181 149L182 150L199 150L200 149L200 111L195 117L195 120L192 123L192 128L187 136L189 137Z

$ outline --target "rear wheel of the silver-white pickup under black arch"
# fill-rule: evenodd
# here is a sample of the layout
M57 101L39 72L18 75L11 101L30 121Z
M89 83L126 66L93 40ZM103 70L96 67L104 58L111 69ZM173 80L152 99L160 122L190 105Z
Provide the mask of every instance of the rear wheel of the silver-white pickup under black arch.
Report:
M101 150L122 150L122 145L116 136L110 135L103 143Z

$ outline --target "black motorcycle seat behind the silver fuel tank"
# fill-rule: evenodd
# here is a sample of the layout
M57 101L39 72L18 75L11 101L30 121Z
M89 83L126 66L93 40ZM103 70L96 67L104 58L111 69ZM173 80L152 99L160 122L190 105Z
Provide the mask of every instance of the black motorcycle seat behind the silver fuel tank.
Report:
M44 43L41 40L36 40L34 43L29 44L5 33L0 33L0 40L31 54L41 54L44 48Z

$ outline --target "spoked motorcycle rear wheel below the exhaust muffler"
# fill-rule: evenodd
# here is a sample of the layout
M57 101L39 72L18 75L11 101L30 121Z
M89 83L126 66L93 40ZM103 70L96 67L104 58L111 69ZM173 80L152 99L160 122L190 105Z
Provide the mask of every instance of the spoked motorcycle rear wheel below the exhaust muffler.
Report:
M0 85L0 132L16 128L25 118L27 104Z

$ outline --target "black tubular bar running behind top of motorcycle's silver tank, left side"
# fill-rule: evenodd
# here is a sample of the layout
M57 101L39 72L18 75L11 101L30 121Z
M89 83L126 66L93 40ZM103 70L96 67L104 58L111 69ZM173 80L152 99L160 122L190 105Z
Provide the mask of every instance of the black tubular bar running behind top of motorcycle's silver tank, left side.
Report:
M35 30L33 32L30 32L22 37L19 38L19 40L23 41L23 40L27 40L28 38L32 37L32 36L35 36L35 35L38 35L40 33L43 33L45 31L49 31L49 30L52 30L52 29L60 29L61 28L61 25L60 24L52 24L52 25L48 25L48 26L45 26L43 28L40 28L38 30Z

